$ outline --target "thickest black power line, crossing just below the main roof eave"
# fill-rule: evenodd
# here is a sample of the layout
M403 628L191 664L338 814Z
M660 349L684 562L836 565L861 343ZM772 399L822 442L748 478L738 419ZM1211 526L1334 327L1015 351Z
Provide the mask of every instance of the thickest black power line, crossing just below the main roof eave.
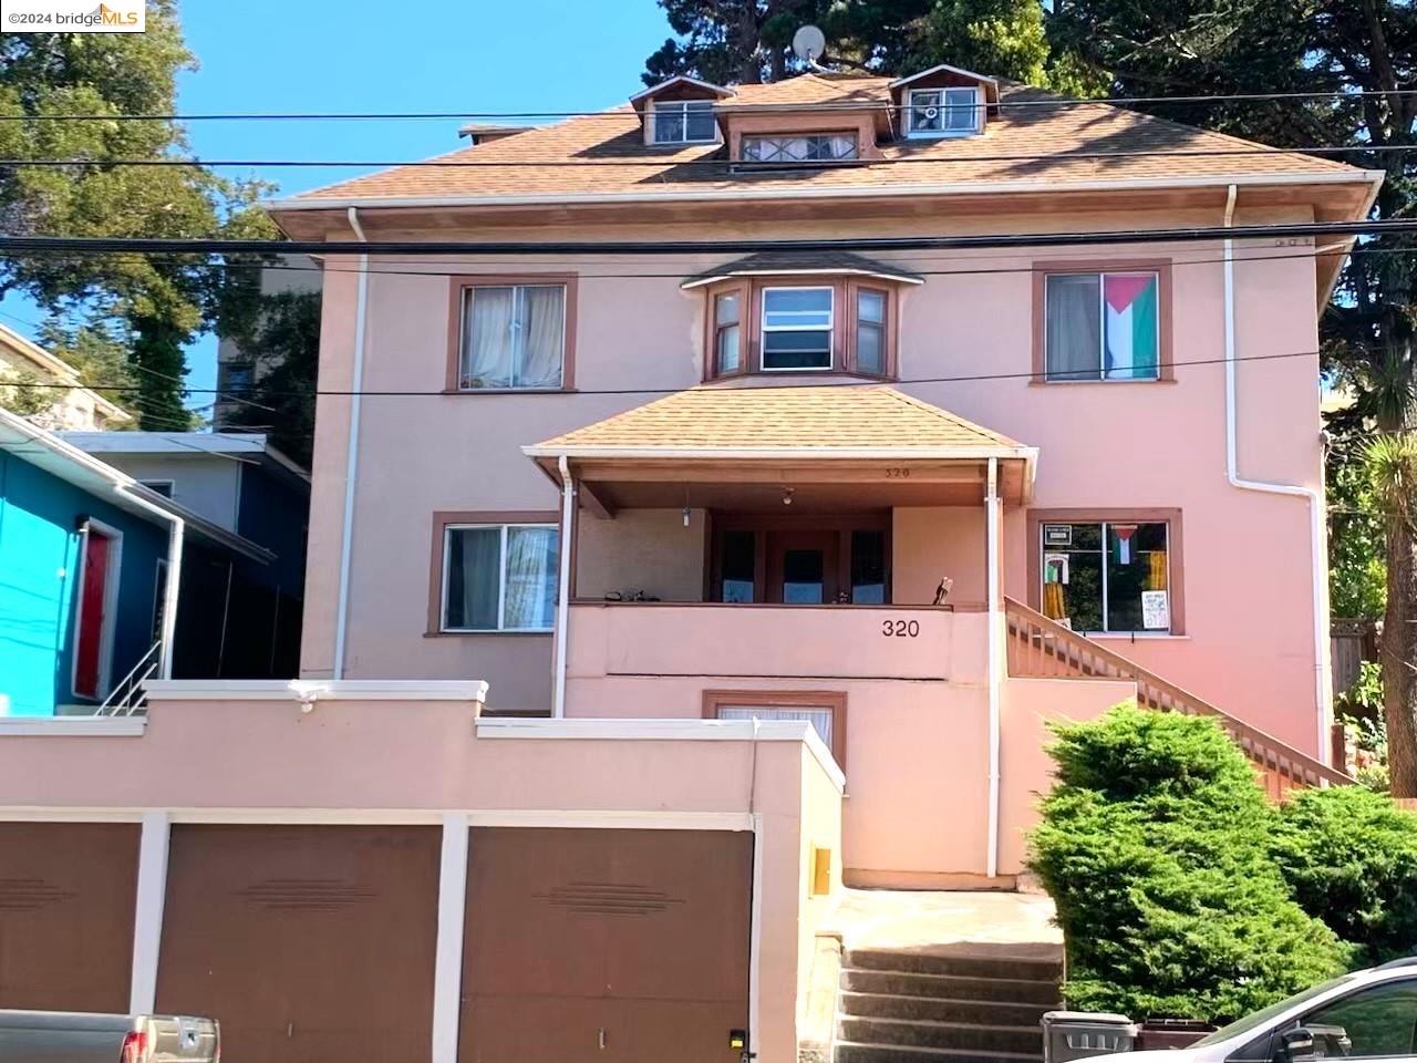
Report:
M319 207L319 201L312 201ZM0 237L0 254L139 252L269 255L751 255L826 251L966 251L1029 247L1170 244L1207 240L1359 237L1417 232L1417 220L1305 221L1267 225L1197 225L1085 232L1010 232L959 237L852 237L836 240L706 241L305 241L113 237Z

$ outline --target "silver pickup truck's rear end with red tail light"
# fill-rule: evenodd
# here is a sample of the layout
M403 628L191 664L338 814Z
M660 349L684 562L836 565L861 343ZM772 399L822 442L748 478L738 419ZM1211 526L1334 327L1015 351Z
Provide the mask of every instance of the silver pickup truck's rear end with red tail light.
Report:
M0 1011L0 1063L220 1063L221 1026L186 1015Z

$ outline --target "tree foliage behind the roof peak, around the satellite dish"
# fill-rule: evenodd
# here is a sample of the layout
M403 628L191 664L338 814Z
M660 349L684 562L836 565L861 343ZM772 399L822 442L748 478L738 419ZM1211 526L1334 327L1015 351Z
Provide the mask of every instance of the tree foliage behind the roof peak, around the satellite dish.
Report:
M781 81L803 64L792 34L815 24L826 34L825 64L874 74L910 74L948 62L1043 88L1087 92L1070 60L1053 57L1037 0L660 0L679 40L645 62L643 81L676 74L714 84Z

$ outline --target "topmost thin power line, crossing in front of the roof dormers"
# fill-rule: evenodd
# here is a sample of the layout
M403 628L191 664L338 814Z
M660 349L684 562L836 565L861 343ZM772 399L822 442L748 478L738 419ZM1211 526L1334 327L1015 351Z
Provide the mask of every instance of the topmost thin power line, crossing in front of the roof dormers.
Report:
M879 75L886 77L886 75ZM843 84L850 84L843 81ZM1087 99L1078 96L1050 96L1046 99L1000 99L996 103L966 103L971 108L998 108L1000 111L1026 111L1039 108L1085 108L1085 106L1148 106L1190 105L1190 103L1253 103L1302 99L1362 99L1365 96L1403 98L1417 95L1417 89L1328 89L1315 92L1214 92L1186 96L1118 96L1111 99ZM908 111L908 105L887 101L846 103L727 103L720 113L748 112L761 115L775 111ZM962 109L962 106L961 106ZM632 112L623 105L601 111L351 111L351 112L149 112L149 113L85 113L85 115L0 115L0 122L412 122L455 119L502 119L502 118L605 118L623 120Z

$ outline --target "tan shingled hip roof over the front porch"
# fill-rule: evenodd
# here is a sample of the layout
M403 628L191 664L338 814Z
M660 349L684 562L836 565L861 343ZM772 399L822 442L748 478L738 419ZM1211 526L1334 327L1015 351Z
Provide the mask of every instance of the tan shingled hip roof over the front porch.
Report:
M531 458L1032 462L1037 449L886 386L694 387L521 448Z

